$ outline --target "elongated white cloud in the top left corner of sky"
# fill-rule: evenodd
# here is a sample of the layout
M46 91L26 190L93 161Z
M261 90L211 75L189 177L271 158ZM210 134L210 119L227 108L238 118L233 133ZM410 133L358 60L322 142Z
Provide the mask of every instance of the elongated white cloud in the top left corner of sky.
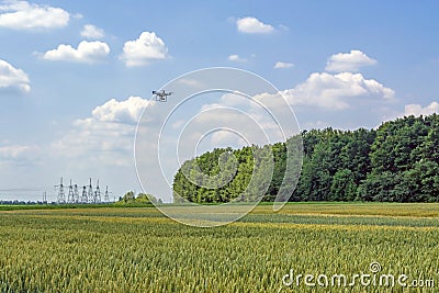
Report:
M5 1L0 5L0 26L13 30L64 27L70 14L60 8L29 3L26 1Z

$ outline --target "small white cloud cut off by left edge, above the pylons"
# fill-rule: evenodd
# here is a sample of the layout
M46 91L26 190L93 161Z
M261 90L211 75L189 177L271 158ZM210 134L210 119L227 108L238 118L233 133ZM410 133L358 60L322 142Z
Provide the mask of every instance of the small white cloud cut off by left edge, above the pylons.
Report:
M23 92L29 92L29 77L22 70L13 67L8 61L0 59L0 89L15 88Z

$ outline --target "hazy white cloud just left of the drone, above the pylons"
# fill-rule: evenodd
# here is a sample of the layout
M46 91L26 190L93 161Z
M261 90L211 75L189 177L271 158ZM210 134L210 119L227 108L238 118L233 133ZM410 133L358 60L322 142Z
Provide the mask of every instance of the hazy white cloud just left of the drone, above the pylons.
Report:
M112 99L97 106L90 117L76 120L71 131L54 142L52 149L59 157L130 166L136 123L147 104L140 97L124 101Z

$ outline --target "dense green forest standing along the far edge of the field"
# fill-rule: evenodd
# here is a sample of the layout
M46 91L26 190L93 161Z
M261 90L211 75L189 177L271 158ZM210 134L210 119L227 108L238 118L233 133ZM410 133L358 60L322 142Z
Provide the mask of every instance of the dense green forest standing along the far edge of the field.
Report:
M439 201L437 114L397 119L378 129L304 131L301 137L302 149L290 153L286 149L296 137L262 147L218 148L188 160L175 177L175 200L178 194L198 203L239 196L248 201L258 190L267 190L263 200L273 201L280 189L291 190L284 183L289 176L295 177L284 176L288 156L303 151L296 188L285 194L289 201Z

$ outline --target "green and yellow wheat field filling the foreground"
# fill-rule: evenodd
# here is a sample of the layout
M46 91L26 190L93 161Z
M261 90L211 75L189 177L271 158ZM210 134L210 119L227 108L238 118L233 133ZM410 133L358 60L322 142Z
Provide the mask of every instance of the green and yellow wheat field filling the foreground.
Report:
M178 224L154 207L0 212L1 292L435 292L300 288L295 274L383 273L439 286L439 204L262 204L221 227ZM408 282L408 281L407 281Z

